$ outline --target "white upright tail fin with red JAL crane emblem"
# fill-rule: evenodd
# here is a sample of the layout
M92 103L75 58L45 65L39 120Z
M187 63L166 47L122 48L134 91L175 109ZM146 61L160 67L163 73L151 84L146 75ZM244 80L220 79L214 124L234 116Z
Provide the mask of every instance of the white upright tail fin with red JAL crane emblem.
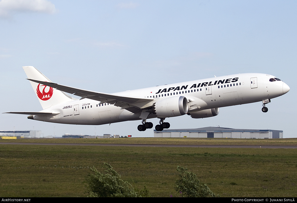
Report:
M27 77L30 79L52 82L33 66L23 66L23 69ZM30 83L43 109L74 100L74 98L70 97L65 92L62 92L60 90L32 81L30 81Z

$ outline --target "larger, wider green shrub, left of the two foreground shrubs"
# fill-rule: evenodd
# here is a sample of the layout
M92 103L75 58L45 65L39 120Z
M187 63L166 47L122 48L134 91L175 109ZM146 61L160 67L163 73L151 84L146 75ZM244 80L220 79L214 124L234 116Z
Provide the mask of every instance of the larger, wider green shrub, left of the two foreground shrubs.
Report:
M149 197L149 190L144 188L139 192L135 190L130 183L121 179L108 163L104 163L105 174L100 173L94 166L91 171L95 174L89 174L86 182L89 190L89 197Z

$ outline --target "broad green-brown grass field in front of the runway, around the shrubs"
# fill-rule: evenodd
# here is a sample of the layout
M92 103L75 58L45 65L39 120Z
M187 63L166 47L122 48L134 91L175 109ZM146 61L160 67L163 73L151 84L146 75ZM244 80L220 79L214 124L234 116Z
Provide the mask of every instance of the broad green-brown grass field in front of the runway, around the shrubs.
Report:
M61 143L113 139L51 140ZM119 140L156 144L151 138ZM164 144L162 139L157 142ZM292 142L296 140L288 141ZM297 149L0 145L0 196L84 197L88 195L84 182L91 172L88 167L102 170L104 162L110 163L135 188L146 185L153 197L178 196L174 190L177 166L195 172L222 197L297 194Z

